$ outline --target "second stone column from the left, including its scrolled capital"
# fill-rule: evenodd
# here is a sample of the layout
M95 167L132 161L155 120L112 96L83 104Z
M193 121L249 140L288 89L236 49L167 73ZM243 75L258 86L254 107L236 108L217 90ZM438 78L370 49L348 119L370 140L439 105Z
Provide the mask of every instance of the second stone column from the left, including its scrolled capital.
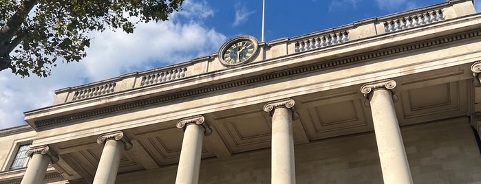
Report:
M95 172L94 184L114 184L117 178L118 165L122 154L122 146L130 150L132 144L122 131L105 133L97 138L97 143L105 143Z

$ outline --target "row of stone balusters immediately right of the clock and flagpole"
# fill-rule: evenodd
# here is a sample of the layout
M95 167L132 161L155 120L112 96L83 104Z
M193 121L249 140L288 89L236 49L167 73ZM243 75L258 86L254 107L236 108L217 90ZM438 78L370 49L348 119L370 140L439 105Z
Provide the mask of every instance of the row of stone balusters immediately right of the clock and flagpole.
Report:
M296 52L308 51L312 49L319 49L323 47L328 47L331 45L339 45L341 43L346 43L349 41L349 32L332 32L328 34L321 34L320 36L312 36L310 38L305 38L301 41L297 41L295 47Z

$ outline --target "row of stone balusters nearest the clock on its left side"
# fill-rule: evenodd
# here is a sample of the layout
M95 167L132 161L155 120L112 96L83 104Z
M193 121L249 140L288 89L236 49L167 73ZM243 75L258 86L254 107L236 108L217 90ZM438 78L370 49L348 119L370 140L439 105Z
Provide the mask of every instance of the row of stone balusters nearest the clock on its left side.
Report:
M142 76L140 87L150 86L150 85L158 84L162 82L169 82L172 80L178 80L180 78L185 78L186 74L187 74L187 67L180 67L180 68L171 69L168 71L158 71L156 73L149 73L145 76Z

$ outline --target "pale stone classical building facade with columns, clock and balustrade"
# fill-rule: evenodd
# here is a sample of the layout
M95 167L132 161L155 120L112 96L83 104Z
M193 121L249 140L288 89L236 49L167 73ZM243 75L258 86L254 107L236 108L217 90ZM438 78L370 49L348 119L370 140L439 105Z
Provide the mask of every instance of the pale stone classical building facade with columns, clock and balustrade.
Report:
M480 41L471 0L236 36L55 91L0 130L0 183L481 183Z

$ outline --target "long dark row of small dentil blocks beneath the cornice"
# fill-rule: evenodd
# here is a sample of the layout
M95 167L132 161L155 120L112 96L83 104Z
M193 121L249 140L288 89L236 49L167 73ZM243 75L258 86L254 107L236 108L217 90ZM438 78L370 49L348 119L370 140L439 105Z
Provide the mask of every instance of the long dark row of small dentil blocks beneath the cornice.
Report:
M383 58L386 56L392 56L395 54L402 54L407 51L414 51L418 49L426 49L429 47L435 47L438 45L449 44L453 41L462 41L469 38L478 37L481 35L481 30L471 30L469 32L462 32L458 34L451 34L449 36L441 36L438 38L431 38L426 41L420 41L417 43L409 43L405 45L400 45L396 47L389 47L385 49L378 49L376 51L370 51L363 54L356 54L353 56L348 56L345 58L339 58L335 60L328 60L324 62L317 62L311 65L304 65L301 67L295 67L291 69L284 69L281 71L275 71L272 73L266 73L258 76L253 76L250 78L244 78L240 80L233 80L230 82L223 82L220 84L213 84L207 87L200 87L197 89L189 89L186 91L180 91L177 93L169 93L165 95L160 95L158 97L152 97L145 100L138 100L135 102L127 102L125 104L118 104L114 106L109 106L105 108L97 108L89 111L84 111L81 113L73 113L71 115L63 115L59 117L53 117L50 119L43 119L34 122L36 128L46 128L48 126L53 126L56 124L61 124L64 122L71 122L78 119L83 119L85 117L92 117L97 115L103 115L107 113L114 113L118 111L125 111L131 108L137 108L140 106L148 106L151 104L158 104L161 102L167 102L170 100L176 100L183 97L191 97L195 95L202 95L206 93L212 93L215 91L221 91L225 89L231 89L235 87L242 87L250 84L255 84L258 82L264 82L267 80L273 80L277 78L285 78L288 76L295 76L301 73L310 73L314 71L322 71L326 69L332 69L336 67L343 67L346 65L351 65L357 62L363 62L367 60Z

